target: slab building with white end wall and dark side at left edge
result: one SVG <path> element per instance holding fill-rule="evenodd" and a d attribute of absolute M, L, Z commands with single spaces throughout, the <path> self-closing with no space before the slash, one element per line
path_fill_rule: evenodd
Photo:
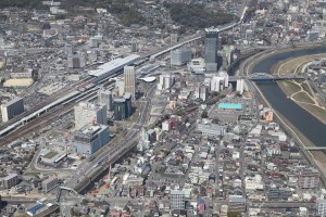
<path fill-rule="evenodd" d="M 24 112 L 24 101 L 16 98 L 5 104 L 1 104 L 2 122 L 8 122 Z"/>

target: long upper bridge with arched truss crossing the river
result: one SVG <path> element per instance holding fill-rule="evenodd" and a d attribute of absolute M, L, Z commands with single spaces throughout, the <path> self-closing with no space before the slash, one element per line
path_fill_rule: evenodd
<path fill-rule="evenodd" d="M 275 75 L 268 73 L 253 73 L 248 76 L 230 76 L 229 81 L 236 81 L 239 79 L 247 79 L 253 81 L 263 80 L 293 80 L 293 79 L 305 79 L 304 76 L 300 75 Z"/>

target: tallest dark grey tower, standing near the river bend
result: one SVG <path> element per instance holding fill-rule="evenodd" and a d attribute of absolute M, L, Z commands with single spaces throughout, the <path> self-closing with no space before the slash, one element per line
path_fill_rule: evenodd
<path fill-rule="evenodd" d="M 208 73 L 217 72 L 218 30 L 205 29 L 205 67 Z"/>

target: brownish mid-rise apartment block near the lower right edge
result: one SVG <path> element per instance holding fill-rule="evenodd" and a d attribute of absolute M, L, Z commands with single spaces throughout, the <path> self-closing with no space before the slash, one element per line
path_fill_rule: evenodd
<path fill-rule="evenodd" d="M 305 168 L 299 173 L 300 189 L 316 189 L 319 187 L 319 173 L 316 168 Z"/>

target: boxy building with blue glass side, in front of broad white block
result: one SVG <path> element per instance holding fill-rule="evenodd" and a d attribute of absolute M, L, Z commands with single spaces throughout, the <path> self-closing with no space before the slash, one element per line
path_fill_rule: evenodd
<path fill-rule="evenodd" d="M 87 125 L 75 131 L 74 149 L 79 154 L 91 155 L 110 141 L 109 127 L 105 125 Z"/>

